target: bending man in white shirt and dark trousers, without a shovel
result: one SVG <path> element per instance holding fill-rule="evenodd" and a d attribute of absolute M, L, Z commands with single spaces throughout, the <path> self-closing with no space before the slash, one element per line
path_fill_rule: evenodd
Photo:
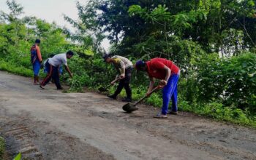
<path fill-rule="evenodd" d="M 73 55 L 74 53 L 72 51 L 68 51 L 67 53 L 61 53 L 49 58 L 45 64 L 48 65 L 49 72 L 39 87 L 44 89 L 45 85 L 48 84 L 50 79 L 53 79 L 57 89 L 63 89 L 59 83 L 59 66 L 63 64 L 66 71 L 69 73 L 69 76 L 72 78 L 72 73 L 67 65 L 67 59 L 70 59 Z"/>

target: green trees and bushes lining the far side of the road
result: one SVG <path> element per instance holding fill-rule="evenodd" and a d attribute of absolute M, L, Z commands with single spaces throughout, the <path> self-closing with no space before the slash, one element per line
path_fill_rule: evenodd
<path fill-rule="evenodd" d="M 91 0 L 77 4 L 80 20 L 64 16 L 75 33 L 21 17 L 23 8 L 15 1 L 7 5 L 11 12 L 0 15 L 1 70 L 32 76 L 29 48 L 39 38 L 44 60 L 67 49 L 76 52 L 69 61 L 74 78 L 62 76 L 69 92 L 97 89 L 116 74 L 101 58 L 99 44 L 108 38 L 113 55 L 133 62 L 165 57 L 181 68 L 179 110 L 256 127 L 255 1 Z M 147 86 L 146 75 L 134 72 L 133 99 Z M 161 107 L 161 92 L 146 103 Z"/>

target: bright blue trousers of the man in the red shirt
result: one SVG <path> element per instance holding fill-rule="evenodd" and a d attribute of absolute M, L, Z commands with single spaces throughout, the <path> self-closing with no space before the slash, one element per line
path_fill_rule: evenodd
<path fill-rule="evenodd" d="M 162 114 L 168 113 L 170 99 L 172 100 L 172 111 L 178 111 L 178 74 L 172 74 L 167 85 L 162 89 Z"/>

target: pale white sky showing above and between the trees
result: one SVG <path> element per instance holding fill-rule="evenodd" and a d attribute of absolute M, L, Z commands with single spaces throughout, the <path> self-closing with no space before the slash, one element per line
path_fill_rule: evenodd
<path fill-rule="evenodd" d="M 76 8 L 77 0 L 15 0 L 23 7 L 23 15 L 35 16 L 46 20 L 48 23 L 56 22 L 57 25 L 66 26 L 72 29 L 72 26 L 64 21 L 63 14 L 78 19 L 78 10 Z M 78 0 L 81 4 L 86 5 L 87 0 Z M 0 0 L 0 10 L 9 13 L 6 0 Z M 106 50 L 110 47 L 109 41 L 105 39 L 102 47 Z"/>

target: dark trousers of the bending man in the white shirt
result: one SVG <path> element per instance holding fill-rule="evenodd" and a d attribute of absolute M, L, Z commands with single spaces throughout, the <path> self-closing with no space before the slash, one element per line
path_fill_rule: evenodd
<path fill-rule="evenodd" d="M 50 79 L 54 80 L 54 83 L 57 87 L 57 89 L 61 89 L 61 84 L 59 83 L 59 67 L 54 67 L 53 65 L 50 65 L 48 62 L 45 64 L 48 65 L 49 72 L 45 79 L 42 81 L 42 86 L 45 86 L 49 83 Z"/>

